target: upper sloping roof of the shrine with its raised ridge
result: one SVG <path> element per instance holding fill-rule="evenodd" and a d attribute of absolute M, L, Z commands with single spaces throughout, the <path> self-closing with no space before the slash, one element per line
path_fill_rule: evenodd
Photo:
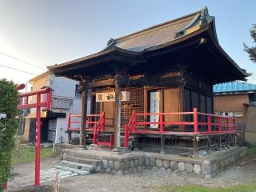
<path fill-rule="evenodd" d="M 208 24 L 214 17 L 208 14 L 205 7 L 194 14 L 186 15 L 169 22 L 164 22 L 157 26 L 151 26 L 145 30 L 126 35 L 122 38 L 110 39 L 105 50 L 117 46 L 123 50 L 141 52 L 150 47 L 159 46 L 167 42 L 172 42 L 194 30 Z"/>

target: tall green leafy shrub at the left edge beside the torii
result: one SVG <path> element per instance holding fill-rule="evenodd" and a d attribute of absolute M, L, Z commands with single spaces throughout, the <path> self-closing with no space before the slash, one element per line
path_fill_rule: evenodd
<path fill-rule="evenodd" d="M 0 191 L 2 183 L 10 177 L 11 152 L 15 146 L 14 134 L 18 127 L 15 120 L 17 104 L 18 90 L 14 82 L 0 79 L 0 114 L 6 114 L 6 118 L 0 119 Z"/>

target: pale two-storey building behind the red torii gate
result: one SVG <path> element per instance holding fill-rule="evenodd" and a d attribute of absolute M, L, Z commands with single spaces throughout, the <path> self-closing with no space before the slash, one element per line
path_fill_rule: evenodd
<path fill-rule="evenodd" d="M 31 78 L 29 81 L 33 90 L 40 90 L 44 87 L 51 89 L 50 110 L 42 109 L 41 112 L 41 139 L 42 142 L 67 142 L 67 117 L 68 114 L 81 113 L 81 94 L 78 90 L 78 82 L 56 77 L 50 71 Z M 29 102 L 35 102 L 36 98 L 31 97 Z M 41 98 L 46 101 L 46 97 Z M 24 139 L 34 142 L 35 138 L 35 108 L 30 109 L 26 116 Z"/>

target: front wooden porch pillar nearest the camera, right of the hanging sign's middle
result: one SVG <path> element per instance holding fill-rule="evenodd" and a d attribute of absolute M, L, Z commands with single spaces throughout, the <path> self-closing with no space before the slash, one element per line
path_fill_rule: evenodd
<path fill-rule="evenodd" d="M 114 86 L 114 147 L 121 146 L 120 143 L 120 130 L 121 130 L 121 98 L 122 98 L 122 86 L 121 86 L 120 74 L 115 75 Z"/>

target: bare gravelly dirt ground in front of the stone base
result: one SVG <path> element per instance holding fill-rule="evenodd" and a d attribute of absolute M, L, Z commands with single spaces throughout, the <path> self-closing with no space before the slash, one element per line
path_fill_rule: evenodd
<path fill-rule="evenodd" d="M 58 158 L 42 161 L 42 170 L 58 163 Z M 34 164 L 14 167 L 14 173 L 24 174 L 34 170 Z M 31 172 L 30 172 L 31 173 Z M 155 174 L 149 170 L 141 174 L 116 176 L 110 174 L 90 174 L 60 180 L 61 191 L 159 191 L 166 185 L 199 185 L 199 186 L 233 186 L 256 182 L 256 154 L 248 154 L 239 162 L 234 163 L 214 178 L 200 178 L 196 174 L 174 171 L 171 174 Z M 53 182 L 44 185 L 54 186 Z"/>

